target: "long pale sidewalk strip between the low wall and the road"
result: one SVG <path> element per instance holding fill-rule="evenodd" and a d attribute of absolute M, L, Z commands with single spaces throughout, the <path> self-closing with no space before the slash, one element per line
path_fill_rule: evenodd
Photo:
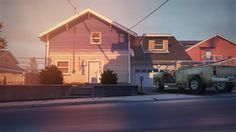
<path fill-rule="evenodd" d="M 166 101 L 166 100 L 183 100 L 183 99 L 202 99 L 210 97 L 236 97 L 236 93 L 211 95 L 211 96 L 186 95 L 186 94 L 157 94 L 157 95 L 142 95 L 142 96 L 137 95 L 137 96 L 122 96 L 122 97 L 91 97 L 91 98 L 3 102 L 0 103 L 0 109 L 77 105 L 77 104 L 128 103 L 128 102 L 144 102 L 144 101 L 148 102 L 148 101 Z"/>

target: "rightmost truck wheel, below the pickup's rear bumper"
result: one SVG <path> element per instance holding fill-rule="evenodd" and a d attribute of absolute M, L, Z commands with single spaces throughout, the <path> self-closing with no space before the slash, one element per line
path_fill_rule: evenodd
<path fill-rule="evenodd" d="M 227 92 L 231 92 L 233 89 L 233 85 L 231 83 L 227 83 L 227 82 L 216 82 L 214 84 L 216 90 L 220 93 L 227 93 Z"/>

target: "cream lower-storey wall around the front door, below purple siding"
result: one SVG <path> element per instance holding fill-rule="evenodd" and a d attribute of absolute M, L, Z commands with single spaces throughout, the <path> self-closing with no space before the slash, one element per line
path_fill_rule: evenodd
<path fill-rule="evenodd" d="M 122 54 L 112 52 L 106 52 L 104 54 L 100 52 L 76 52 L 74 57 L 71 52 L 51 52 L 50 60 L 51 64 L 54 65 L 56 65 L 58 60 L 70 61 L 69 74 L 64 75 L 65 83 L 88 83 L 89 61 L 101 61 L 101 70 L 114 70 L 118 74 L 118 83 L 128 83 L 128 54 L 126 52 Z M 82 65 L 83 62 L 86 63 L 85 66 Z M 74 73 L 73 69 L 75 71 Z"/>

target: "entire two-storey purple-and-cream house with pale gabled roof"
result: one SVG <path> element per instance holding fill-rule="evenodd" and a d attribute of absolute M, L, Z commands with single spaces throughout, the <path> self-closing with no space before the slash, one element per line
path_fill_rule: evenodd
<path fill-rule="evenodd" d="M 65 83 L 98 83 L 105 69 L 130 83 L 130 44 L 136 33 L 86 9 L 41 33 L 46 64 L 57 65 Z"/>

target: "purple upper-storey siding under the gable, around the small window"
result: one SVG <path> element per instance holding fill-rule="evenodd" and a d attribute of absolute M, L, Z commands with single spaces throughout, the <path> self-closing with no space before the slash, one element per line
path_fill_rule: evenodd
<path fill-rule="evenodd" d="M 50 37 L 50 52 L 119 52 L 128 51 L 128 34 L 99 18 L 85 15 L 69 24 L 69 30 L 59 29 Z M 90 44 L 90 32 L 101 32 L 102 44 Z"/>

